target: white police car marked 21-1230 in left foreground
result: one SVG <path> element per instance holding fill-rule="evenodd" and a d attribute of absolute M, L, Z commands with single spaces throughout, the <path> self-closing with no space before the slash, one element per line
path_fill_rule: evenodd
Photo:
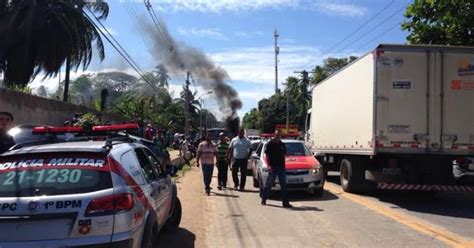
<path fill-rule="evenodd" d="M 0 185 L 2 248 L 156 247 L 181 220 L 170 174 L 129 137 L 9 151 Z"/>

